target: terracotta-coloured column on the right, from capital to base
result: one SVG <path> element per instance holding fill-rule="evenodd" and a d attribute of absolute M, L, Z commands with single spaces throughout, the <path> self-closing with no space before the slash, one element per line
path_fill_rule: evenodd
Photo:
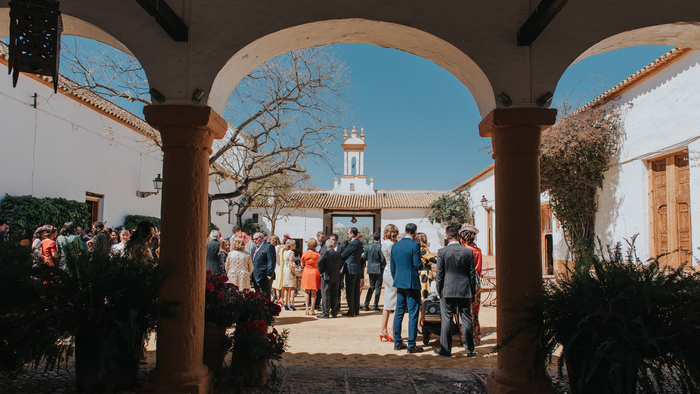
<path fill-rule="evenodd" d="M 479 124 L 491 137 L 495 160 L 496 284 L 498 339 L 522 317 L 514 311 L 542 291 L 540 223 L 540 133 L 554 124 L 556 110 L 493 110 Z M 536 338 L 521 334 L 498 352 L 497 368 L 488 376 L 489 394 L 552 393 L 544 365 L 528 345 Z M 538 380 L 539 383 L 536 383 Z"/>

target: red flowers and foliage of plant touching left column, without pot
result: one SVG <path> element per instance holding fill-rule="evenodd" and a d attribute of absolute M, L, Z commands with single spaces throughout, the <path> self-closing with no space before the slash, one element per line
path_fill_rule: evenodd
<path fill-rule="evenodd" d="M 214 276 L 207 270 L 206 291 L 204 293 L 204 320 L 222 327 L 231 327 L 238 320 L 238 288 L 228 283 L 226 275 Z"/>

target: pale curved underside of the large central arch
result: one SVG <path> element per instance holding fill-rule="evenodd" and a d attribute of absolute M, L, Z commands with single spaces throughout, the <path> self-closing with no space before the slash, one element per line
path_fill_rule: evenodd
<path fill-rule="evenodd" d="M 486 74 L 454 45 L 416 28 L 367 19 L 307 23 L 250 43 L 219 70 L 207 105 L 222 113 L 236 85 L 256 67 L 281 54 L 312 46 L 346 43 L 395 48 L 428 59 L 449 71 L 469 89 L 482 117 L 496 108 L 493 88 Z"/>

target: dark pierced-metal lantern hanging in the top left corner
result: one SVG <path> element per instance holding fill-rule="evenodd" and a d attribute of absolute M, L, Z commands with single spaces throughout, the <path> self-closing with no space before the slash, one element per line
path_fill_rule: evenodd
<path fill-rule="evenodd" d="M 63 22 L 57 0 L 12 0 L 8 74 L 17 86 L 20 72 L 47 75 L 58 89 Z"/>

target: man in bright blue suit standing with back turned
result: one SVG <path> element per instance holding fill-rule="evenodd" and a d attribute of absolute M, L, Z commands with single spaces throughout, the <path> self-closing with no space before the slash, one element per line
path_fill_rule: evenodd
<path fill-rule="evenodd" d="M 420 259 L 420 244 L 416 237 L 418 226 L 406 225 L 406 236 L 391 247 L 391 276 L 396 287 L 396 313 L 394 314 L 394 350 L 406 349 L 401 338 L 401 323 L 408 309 L 408 353 L 420 353 L 423 348 L 416 346 L 418 313 L 420 310 L 420 280 L 418 269 L 423 266 Z"/>

